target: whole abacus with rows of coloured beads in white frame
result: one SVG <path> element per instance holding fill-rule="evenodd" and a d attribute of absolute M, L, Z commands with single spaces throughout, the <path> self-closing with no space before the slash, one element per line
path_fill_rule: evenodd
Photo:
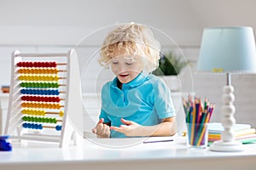
<path fill-rule="evenodd" d="M 38 61 L 38 59 L 40 59 Z M 4 133 L 12 139 L 54 142 L 83 139 L 79 62 L 67 54 L 12 54 L 9 109 Z"/>

